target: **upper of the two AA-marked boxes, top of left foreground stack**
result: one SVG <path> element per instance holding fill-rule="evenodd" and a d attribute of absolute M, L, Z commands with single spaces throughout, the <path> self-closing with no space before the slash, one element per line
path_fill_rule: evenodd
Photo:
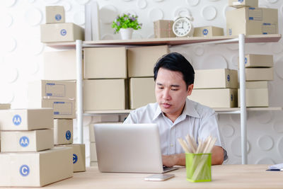
<path fill-rule="evenodd" d="M 53 128 L 52 108 L 0 110 L 0 130 Z"/>

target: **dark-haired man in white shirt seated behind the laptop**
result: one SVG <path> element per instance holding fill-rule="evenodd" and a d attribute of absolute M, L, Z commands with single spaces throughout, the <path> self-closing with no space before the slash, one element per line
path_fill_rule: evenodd
<path fill-rule="evenodd" d="M 221 147 L 214 110 L 187 99 L 194 86 L 195 71 L 190 62 L 177 52 L 161 57 L 154 67 L 156 103 L 129 113 L 124 123 L 157 123 L 161 137 L 164 166 L 185 166 L 185 154 L 178 138 L 187 134 L 195 139 L 215 137 L 212 164 L 222 164 Z M 225 151 L 226 152 L 226 151 Z"/>

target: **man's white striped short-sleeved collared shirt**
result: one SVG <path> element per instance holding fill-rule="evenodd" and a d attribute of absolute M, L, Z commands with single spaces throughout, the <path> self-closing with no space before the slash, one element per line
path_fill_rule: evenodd
<path fill-rule="evenodd" d="M 163 155 L 184 153 L 178 138 L 185 139 L 187 134 L 195 137 L 196 140 L 198 138 L 204 140 L 211 135 L 217 139 L 215 145 L 222 147 L 214 110 L 189 99 L 186 100 L 183 113 L 175 122 L 161 112 L 158 103 L 149 103 L 132 110 L 124 123 L 156 123 Z"/>

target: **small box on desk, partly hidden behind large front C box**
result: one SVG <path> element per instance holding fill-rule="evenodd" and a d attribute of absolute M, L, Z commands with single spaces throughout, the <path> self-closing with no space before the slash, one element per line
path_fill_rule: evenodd
<path fill-rule="evenodd" d="M 74 172 L 86 171 L 86 147 L 85 144 L 66 144 L 59 147 L 71 147 L 73 149 Z"/>

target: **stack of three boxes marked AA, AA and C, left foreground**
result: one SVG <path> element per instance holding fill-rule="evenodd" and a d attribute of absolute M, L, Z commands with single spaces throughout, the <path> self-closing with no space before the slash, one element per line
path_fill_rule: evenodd
<path fill-rule="evenodd" d="M 38 187 L 73 176 L 71 148 L 53 148 L 53 110 L 0 110 L 0 186 Z"/>

